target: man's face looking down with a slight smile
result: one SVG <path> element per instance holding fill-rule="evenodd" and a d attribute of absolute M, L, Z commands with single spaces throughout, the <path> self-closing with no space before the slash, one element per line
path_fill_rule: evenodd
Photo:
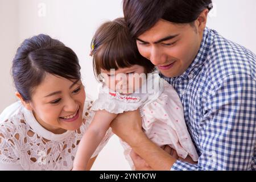
<path fill-rule="evenodd" d="M 199 51 L 203 32 L 191 24 L 174 24 L 160 19 L 137 38 L 137 46 L 166 77 L 182 75 Z"/>

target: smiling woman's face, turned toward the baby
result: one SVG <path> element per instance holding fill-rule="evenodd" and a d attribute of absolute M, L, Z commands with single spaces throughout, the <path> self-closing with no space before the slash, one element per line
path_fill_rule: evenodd
<path fill-rule="evenodd" d="M 82 124 L 85 90 L 81 80 L 67 80 L 47 73 L 29 103 L 36 120 L 55 134 L 76 130 Z"/>

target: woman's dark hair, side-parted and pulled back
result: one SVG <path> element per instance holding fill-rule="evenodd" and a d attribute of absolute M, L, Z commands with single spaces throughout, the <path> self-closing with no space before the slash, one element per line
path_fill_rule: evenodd
<path fill-rule="evenodd" d="M 15 88 L 24 101 L 31 101 L 36 86 L 42 83 L 46 73 L 79 80 L 81 74 L 76 53 L 48 35 L 24 40 L 16 51 L 12 67 Z"/>

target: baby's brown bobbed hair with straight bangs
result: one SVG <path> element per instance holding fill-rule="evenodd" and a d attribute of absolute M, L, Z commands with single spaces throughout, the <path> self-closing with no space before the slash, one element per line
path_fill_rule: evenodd
<path fill-rule="evenodd" d="M 155 66 L 141 56 L 137 44 L 131 38 L 124 18 L 102 24 L 92 40 L 92 55 L 94 75 L 98 81 L 101 69 L 129 68 L 135 64 L 145 68 L 146 73 L 154 70 Z"/>

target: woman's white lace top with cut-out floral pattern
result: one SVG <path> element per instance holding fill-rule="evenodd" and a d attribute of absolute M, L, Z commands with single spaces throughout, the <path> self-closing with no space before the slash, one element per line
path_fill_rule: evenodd
<path fill-rule="evenodd" d="M 1 122 L 0 163 L 20 164 L 24 170 L 71 170 L 77 145 L 94 116 L 91 106 L 92 102 L 88 102 L 80 129 L 69 132 L 60 140 L 48 140 L 38 135 L 28 125 L 22 111 Z M 93 156 L 100 152 L 111 135 L 109 130 Z"/>

